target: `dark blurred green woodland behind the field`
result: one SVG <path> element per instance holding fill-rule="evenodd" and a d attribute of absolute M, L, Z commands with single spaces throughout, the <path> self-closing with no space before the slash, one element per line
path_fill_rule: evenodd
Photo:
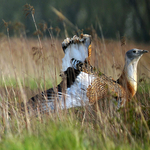
<path fill-rule="evenodd" d="M 18 28 L 19 32 L 24 28 L 28 37 L 33 36 L 32 17 L 23 11 L 26 3 L 35 8 L 39 29 L 45 24 L 59 37 L 64 37 L 64 26 L 70 35 L 75 30 L 69 24 L 63 24 L 63 19 L 52 11 L 51 6 L 84 33 L 94 30 L 98 36 L 109 39 L 126 36 L 134 41 L 150 41 L 150 0 L 0 0 L 1 33 L 6 32 L 4 19 L 9 22 L 11 36 L 17 36 Z M 44 35 L 48 35 L 48 30 Z"/>

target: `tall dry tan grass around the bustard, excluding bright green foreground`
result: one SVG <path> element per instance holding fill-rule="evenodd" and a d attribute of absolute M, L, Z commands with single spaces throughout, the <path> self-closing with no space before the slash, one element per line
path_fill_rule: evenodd
<path fill-rule="evenodd" d="M 35 39 L 10 38 L 9 40 L 11 47 L 7 37 L 3 37 L 0 41 L 0 134 L 2 138 L 6 131 L 10 135 L 20 135 L 24 129 L 27 129 L 32 134 L 36 132 L 37 123 L 35 122 L 37 119 L 41 124 L 43 122 L 45 124 L 45 118 L 55 122 L 58 117 L 62 122 L 64 120 L 68 123 L 79 121 L 81 127 L 86 128 L 89 137 L 89 130 L 92 129 L 93 132 L 94 130 L 100 131 L 104 140 L 111 139 L 114 143 L 119 140 L 138 145 L 136 140 L 146 137 L 149 139 L 150 87 L 147 85 L 150 67 L 149 54 L 143 56 L 138 65 L 139 79 L 143 79 L 144 76 L 147 80 L 138 83 L 139 91 L 127 109 L 113 112 L 113 115 L 107 111 L 100 111 L 97 118 L 91 114 L 88 108 L 72 109 L 67 114 L 61 112 L 59 115 L 43 116 L 43 114 L 38 114 L 38 118 L 36 118 L 27 111 L 23 113 L 20 105 L 21 102 L 26 103 L 36 93 L 51 88 L 61 81 L 59 72 L 64 56 L 61 49 L 62 40 L 47 38 L 41 40 L 43 54 L 41 54 Z M 92 42 L 92 65 L 116 79 L 123 69 L 124 53 L 133 47 L 149 49 L 144 44 L 129 43 L 121 47 L 119 41 L 106 40 L 105 43 L 102 43 L 101 39 L 94 39 Z"/>

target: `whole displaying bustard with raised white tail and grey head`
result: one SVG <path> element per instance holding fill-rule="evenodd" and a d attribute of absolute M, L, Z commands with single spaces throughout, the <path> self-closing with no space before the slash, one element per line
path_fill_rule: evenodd
<path fill-rule="evenodd" d="M 146 50 L 132 49 L 126 52 L 125 66 L 117 81 L 102 74 L 97 76 L 90 65 L 91 36 L 74 36 L 62 42 L 65 56 L 62 59 L 62 82 L 30 99 L 33 107 L 41 111 L 69 109 L 95 104 L 107 97 L 118 102 L 118 108 L 137 91 L 137 64 Z"/>

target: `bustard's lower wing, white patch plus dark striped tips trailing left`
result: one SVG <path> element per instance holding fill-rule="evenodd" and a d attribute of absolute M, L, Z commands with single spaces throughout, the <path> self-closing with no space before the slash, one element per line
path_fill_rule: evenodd
<path fill-rule="evenodd" d="M 36 101 L 37 104 L 39 102 L 39 107 L 42 111 L 89 105 L 87 88 L 94 79 L 94 75 L 80 72 L 71 86 L 65 86 L 66 80 L 64 79 L 56 88 L 51 88 L 32 97 L 30 102 Z M 64 92 L 62 88 L 65 88 Z"/>

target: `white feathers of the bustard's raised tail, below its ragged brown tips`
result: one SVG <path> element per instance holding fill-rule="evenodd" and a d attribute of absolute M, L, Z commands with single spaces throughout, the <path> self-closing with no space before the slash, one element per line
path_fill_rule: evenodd
<path fill-rule="evenodd" d="M 72 67 L 72 58 L 84 62 L 87 57 L 88 48 L 84 44 L 70 44 L 65 50 L 65 56 L 62 59 L 62 71 L 66 71 L 68 67 Z"/>

